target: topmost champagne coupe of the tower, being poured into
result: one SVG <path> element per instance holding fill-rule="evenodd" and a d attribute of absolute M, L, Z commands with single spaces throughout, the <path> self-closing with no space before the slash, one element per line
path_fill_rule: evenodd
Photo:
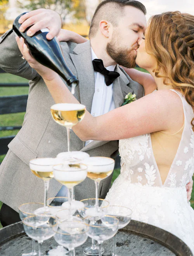
<path fill-rule="evenodd" d="M 52 118 L 57 124 L 65 126 L 68 135 L 68 151 L 71 151 L 70 131 L 85 116 L 86 107 L 82 104 L 58 103 L 50 108 Z"/>

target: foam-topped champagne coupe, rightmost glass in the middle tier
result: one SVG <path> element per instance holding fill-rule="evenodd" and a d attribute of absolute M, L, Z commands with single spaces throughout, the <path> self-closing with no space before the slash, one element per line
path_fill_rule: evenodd
<path fill-rule="evenodd" d="M 88 216 L 101 216 L 103 214 L 102 208 L 99 207 L 98 191 L 99 183 L 102 179 L 111 175 L 114 170 L 114 160 L 109 157 L 88 157 L 82 161 L 88 166 L 87 177 L 93 179 L 95 182 L 96 203 L 95 207 L 86 210 Z"/>

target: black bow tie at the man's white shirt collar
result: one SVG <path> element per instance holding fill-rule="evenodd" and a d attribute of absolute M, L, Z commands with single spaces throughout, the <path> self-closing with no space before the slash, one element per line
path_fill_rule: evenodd
<path fill-rule="evenodd" d="M 120 76 L 120 74 L 116 71 L 109 71 L 104 67 L 102 59 L 93 59 L 92 61 L 94 71 L 99 72 L 104 75 L 105 83 L 107 86 L 111 85 L 114 80 Z"/>

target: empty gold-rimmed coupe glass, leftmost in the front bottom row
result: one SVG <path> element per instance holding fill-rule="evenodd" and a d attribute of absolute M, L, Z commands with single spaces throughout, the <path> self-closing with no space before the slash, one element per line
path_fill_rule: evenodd
<path fill-rule="evenodd" d="M 23 219 L 24 231 L 26 234 L 36 241 L 38 241 L 39 252 L 38 256 L 42 256 L 41 244 L 44 240 L 50 239 L 54 236 L 57 230 L 58 223 L 55 218 L 42 216 L 30 216 Z"/>

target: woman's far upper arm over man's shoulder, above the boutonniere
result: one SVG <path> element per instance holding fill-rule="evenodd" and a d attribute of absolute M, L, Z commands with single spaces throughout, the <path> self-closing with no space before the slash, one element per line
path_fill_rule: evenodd
<path fill-rule="evenodd" d="M 134 68 L 122 68 L 130 76 L 130 78 L 132 78 L 132 80 L 138 82 L 144 87 L 145 95 L 156 90 L 156 83 L 150 74 L 135 70 Z"/>

